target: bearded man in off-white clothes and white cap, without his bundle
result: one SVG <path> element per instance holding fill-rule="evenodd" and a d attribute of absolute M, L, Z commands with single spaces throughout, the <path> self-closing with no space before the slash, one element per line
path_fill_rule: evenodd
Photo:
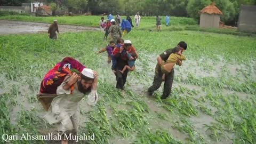
<path fill-rule="evenodd" d="M 88 95 L 87 103 L 95 105 L 98 101 L 97 83 L 97 72 L 84 68 L 79 76 L 76 73 L 66 76 L 62 84 L 58 86 L 58 97 L 52 100 L 46 119 L 50 124 L 58 123 L 58 131 L 61 135 L 77 133 L 80 114 L 79 101 Z M 71 85 L 74 85 L 73 91 L 70 89 Z M 68 140 L 62 139 L 62 144 L 66 143 Z"/>

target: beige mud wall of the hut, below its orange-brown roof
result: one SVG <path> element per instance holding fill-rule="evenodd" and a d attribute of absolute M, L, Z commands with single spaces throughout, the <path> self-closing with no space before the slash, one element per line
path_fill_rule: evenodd
<path fill-rule="evenodd" d="M 219 28 L 220 16 L 218 14 L 202 13 L 200 15 L 200 27 Z"/>

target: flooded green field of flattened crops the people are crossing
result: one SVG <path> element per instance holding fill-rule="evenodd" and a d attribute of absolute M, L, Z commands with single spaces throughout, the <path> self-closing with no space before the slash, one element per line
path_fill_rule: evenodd
<path fill-rule="evenodd" d="M 98 71 L 99 102 L 81 101 L 79 133 L 94 133 L 89 143 L 254 143 L 256 141 L 256 41 L 197 31 L 160 33 L 133 30 L 130 39 L 139 53 L 125 91 L 115 89 L 103 33 L 0 36 L 0 134 L 57 133 L 44 121 L 36 94 L 42 78 L 64 57 L 74 57 Z M 187 57 L 175 66 L 170 97 L 161 100 L 162 86 L 146 94 L 153 82 L 156 57 L 180 41 Z M 0 143 L 5 142 L 0 139 Z M 85 143 L 85 141 L 79 141 Z M 10 143 L 56 143 L 13 140 Z"/>

